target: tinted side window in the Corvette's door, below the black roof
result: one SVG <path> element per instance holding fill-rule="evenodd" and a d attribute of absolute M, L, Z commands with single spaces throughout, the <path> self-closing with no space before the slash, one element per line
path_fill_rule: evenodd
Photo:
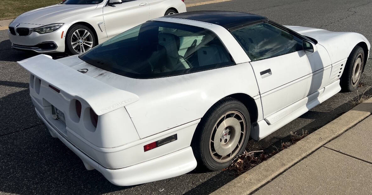
<path fill-rule="evenodd" d="M 302 50 L 302 40 L 269 23 L 237 29 L 232 35 L 253 61 Z"/>

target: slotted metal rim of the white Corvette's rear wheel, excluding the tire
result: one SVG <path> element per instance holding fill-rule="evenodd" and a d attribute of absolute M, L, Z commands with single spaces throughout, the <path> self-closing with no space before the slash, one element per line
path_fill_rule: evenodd
<path fill-rule="evenodd" d="M 229 111 L 215 123 L 209 139 L 209 152 L 220 163 L 235 157 L 243 145 L 246 121 L 238 111 Z"/>

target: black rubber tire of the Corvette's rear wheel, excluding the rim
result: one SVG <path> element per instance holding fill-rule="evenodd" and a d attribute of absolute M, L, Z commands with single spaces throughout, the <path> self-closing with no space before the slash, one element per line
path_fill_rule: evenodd
<path fill-rule="evenodd" d="M 217 121 L 220 121 L 219 119 L 225 115 L 225 113 L 228 112 L 238 112 L 243 116 L 243 120 L 245 121 L 245 134 L 242 135 L 240 134 L 239 138 L 239 143 L 240 146 L 237 145 L 235 147 L 234 154 L 231 153 L 230 156 L 228 156 L 231 159 L 226 159 L 226 162 L 217 162 L 214 158 L 212 157 L 213 151 L 212 151 L 212 142 L 209 141 L 211 140 L 212 137 L 216 136 L 218 131 L 218 126 L 215 124 L 218 124 Z M 230 116 L 226 116 L 225 118 L 235 116 L 240 118 L 240 116 L 236 116 L 233 114 L 230 114 Z M 234 119 L 233 119 L 234 120 Z M 220 123 L 219 125 L 221 125 Z M 242 122 L 239 122 L 241 125 L 241 130 L 243 130 L 243 124 Z M 203 116 L 201 121 L 198 124 L 198 127 L 196 128 L 196 131 L 194 133 L 193 139 L 192 139 L 192 149 L 194 156 L 198 162 L 198 166 L 207 168 L 209 170 L 222 170 L 232 163 L 232 160 L 241 153 L 246 148 L 246 145 L 248 143 L 248 138 L 250 134 L 250 116 L 249 112 L 246 108 L 246 106 L 243 105 L 240 101 L 237 99 L 231 98 L 231 97 L 225 97 L 224 99 L 220 100 L 219 102 L 215 103 L 215 105 L 212 106 L 208 110 L 208 112 Z M 223 127 L 222 127 L 223 128 Z M 226 128 L 225 128 L 226 130 Z M 213 134 L 212 134 L 213 132 Z M 232 131 L 231 131 L 232 132 Z M 234 133 L 229 134 L 231 137 L 233 137 Z M 222 135 L 219 136 L 224 136 L 224 131 L 222 132 Z M 219 137 L 217 137 L 218 139 Z M 222 138 L 222 137 L 221 137 Z M 230 140 L 229 140 L 230 141 Z M 222 139 L 221 139 L 222 143 Z M 226 143 L 226 142 L 225 142 Z M 228 143 L 228 142 L 227 142 Z M 210 145 L 211 144 L 211 145 Z M 217 154 L 218 155 L 218 154 Z"/>

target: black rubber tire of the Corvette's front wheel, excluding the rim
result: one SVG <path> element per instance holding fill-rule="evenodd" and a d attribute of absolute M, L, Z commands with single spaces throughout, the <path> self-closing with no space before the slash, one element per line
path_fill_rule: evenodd
<path fill-rule="evenodd" d="M 359 59 L 360 58 L 360 59 Z M 360 67 L 357 65 L 357 60 L 360 60 Z M 342 92 L 352 92 L 357 89 L 360 79 L 362 77 L 362 70 L 364 66 L 364 51 L 360 46 L 355 46 L 345 64 L 345 70 L 340 78 L 340 86 Z M 353 75 L 355 75 L 355 69 L 359 70 L 359 78 L 353 81 Z"/>

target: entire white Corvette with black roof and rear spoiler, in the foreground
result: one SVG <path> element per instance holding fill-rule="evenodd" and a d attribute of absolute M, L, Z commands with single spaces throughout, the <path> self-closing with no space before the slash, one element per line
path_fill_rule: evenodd
<path fill-rule="evenodd" d="M 221 170 L 340 90 L 369 55 L 353 32 L 282 26 L 240 12 L 145 22 L 90 51 L 18 62 L 53 137 L 115 185 Z"/>

